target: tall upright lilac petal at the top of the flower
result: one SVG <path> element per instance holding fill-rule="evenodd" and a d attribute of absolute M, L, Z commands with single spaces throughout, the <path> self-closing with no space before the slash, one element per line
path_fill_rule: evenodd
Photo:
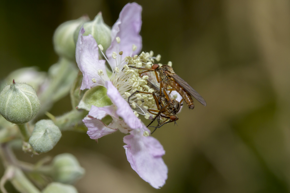
<path fill-rule="evenodd" d="M 114 69 L 115 61 L 112 58 L 112 53 L 117 53 L 117 60 L 120 60 L 120 51 L 123 51 L 123 58 L 126 56 L 133 56 L 138 54 L 142 49 L 142 37 L 139 35 L 141 30 L 142 20 L 141 20 L 142 7 L 137 3 L 128 3 L 124 6 L 120 12 L 119 19 L 112 27 L 111 39 L 112 43 L 106 51 L 106 55 L 111 67 Z M 121 39 L 120 43 L 117 43 L 116 37 Z M 135 44 L 137 49 L 132 50 L 132 46 Z M 118 66 L 122 68 L 123 66 Z"/>

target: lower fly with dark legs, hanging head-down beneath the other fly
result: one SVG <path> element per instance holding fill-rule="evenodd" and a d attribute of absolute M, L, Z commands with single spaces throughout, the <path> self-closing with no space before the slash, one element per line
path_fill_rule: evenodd
<path fill-rule="evenodd" d="M 155 100 L 155 103 L 157 106 L 157 110 L 155 110 L 155 109 L 148 109 L 147 110 L 149 113 L 155 115 L 155 117 L 152 119 L 152 121 L 149 123 L 149 125 L 147 125 L 147 127 L 154 127 L 156 130 L 157 128 L 162 127 L 162 125 L 164 125 L 166 123 L 171 123 L 173 121 L 174 122 L 177 121 L 178 120 L 177 112 L 180 110 L 180 106 L 181 106 L 180 102 L 178 102 L 176 99 L 173 99 L 170 95 L 168 95 L 166 93 L 166 91 L 165 92 L 160 91 L 160 88 L 157 85 L 155 85 L 155 83 L 153 83 L 153 81 L 151 81 L 149 79 L 147 79 L 147 85 L 149 86 L 149 88 L 152 88 L 154 90 L 154 92 L 143 92 L 143 91 L 137 90 L 133 94 L 131 94 L 131 96 L 133 96 L 135 93 L 139 92 L 139 93 L 144 93 L 144 94 L 152 94 L 154 97 L 154 100 Z M 128 97 L 128 103 L 129 103 L 130 97 Z M 165 120 L 162 121 L 161 123 L 159 121 L 160 117 L 165 118 Z M 157 119 L 158 125 L 156 127 L 150 126 L 155 121 L 155 119 Z"/>

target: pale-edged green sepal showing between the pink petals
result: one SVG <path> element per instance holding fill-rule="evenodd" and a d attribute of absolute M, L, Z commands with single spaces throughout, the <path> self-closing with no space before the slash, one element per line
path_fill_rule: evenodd
<path fill-rule="evenodd" d="M 95 86 L 85 92 L 77 108 L 90 111 L 92 105 L 104 107 L 111 104 L 112 102 L 107 95 L 107 89 L 104 86 Z"/>

